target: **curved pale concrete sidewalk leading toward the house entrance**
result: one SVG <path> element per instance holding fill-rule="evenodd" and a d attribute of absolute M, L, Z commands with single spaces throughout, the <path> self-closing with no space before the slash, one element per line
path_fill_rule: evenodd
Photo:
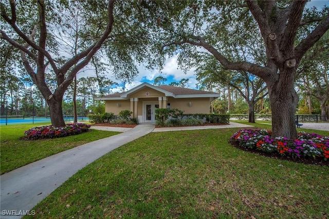
<path fill-rule="evenodd" d="M 4 210 L 12 210 L 12 214 L 30 210 L 78 170 L 153 129 L 153 124 L 141 124 L 123 133 L 51 155 L 1 175 L 1 214 Z M 9 215 L 0 217 L 21 218 Z"/>

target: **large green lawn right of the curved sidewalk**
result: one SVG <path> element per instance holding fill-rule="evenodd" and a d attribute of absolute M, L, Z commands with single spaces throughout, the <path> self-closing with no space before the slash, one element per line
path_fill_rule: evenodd
<path fill-rule="evenodd" d="M 329 217 L 328 167 L 234 148 L 228 139 L 236 130 L 145 135 L 69 178 L 34 217 Z"/>

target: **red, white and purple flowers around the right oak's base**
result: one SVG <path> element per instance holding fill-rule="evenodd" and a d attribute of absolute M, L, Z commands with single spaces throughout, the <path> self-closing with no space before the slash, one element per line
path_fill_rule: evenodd
<path fill-rule="evenodd" d="M 257 149 L 263 152 L 291 156 L 293 158 L 323 157 L 329 158 L 329 136 L 315 133 L 299 132 L 298 139 L 288 140 L 286 137 L 271 137 L 269 130 L 241 129 L 235 132 L 231 143 L 240 147 Z"/>

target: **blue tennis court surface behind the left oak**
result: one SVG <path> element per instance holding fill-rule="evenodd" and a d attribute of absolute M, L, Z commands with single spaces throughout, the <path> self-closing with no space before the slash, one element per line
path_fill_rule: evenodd
<path fill-rule="evenodd" d="M 50 122 L 50 118 L 49 117 L 24 117 L 24 116 L 20 116 L 20 117 L 15 117 L 15 118 L 11 118 L 11 117 L 0 117 L 0 125 L 1 126 L 5 126 L 6 125 L 6 120 L 7 120 L 7 125 L 17 125 L 17 124 L 38 124 L 38 123 L 49 123 Z M 78 117 L 78 121 L 79 122 L 83 122 L 83 121 L 88 121 L 89 118 L 88 117 Z M 72 116 L 64 116 L 64 121 L 65 122 L 73 122 L 73 117 Z"/>

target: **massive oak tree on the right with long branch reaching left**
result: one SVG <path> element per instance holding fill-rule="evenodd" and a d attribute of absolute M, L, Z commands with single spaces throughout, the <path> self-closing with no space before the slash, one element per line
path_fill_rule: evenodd
<path fill-rule="evenodd" d="M 188 2 L 184 9 L 179 7 L 180 10 L 176 10 L 175 14 L 170 12 L 167 17 L 159 16 L 158 26 L 167 34 L 162 36 L 162 51 L 172 53 L 178 50 L 183 63 L 189 59 L 189 55 L 198 52 L 196 47 L 203 48 L 225 69 L 246 71 L 259 76 L 268 87 L 273 137 L 296 138 L 295 113 L 299 99 L 294 89 L 296 69 L 305 52 L 329 28 L 326 10 L 318 13 L 318 16 L 303 16 L 306 2 Z M 232 32 L 244 32 L 250 22 L 257 24 L 258 30 L 254 31 L 254 35 L 263 39 L 266 65 L 259 65 L 252 60 L 234 62 L 218 49 L 226 43 L 221 37 L 222 31 L 231 30 L 233 26 L 230 24 L 237 22 L 241 25 Z M 314 24 L 313 28 L 297 41 L 299 29 L 310 23 Z"/>

